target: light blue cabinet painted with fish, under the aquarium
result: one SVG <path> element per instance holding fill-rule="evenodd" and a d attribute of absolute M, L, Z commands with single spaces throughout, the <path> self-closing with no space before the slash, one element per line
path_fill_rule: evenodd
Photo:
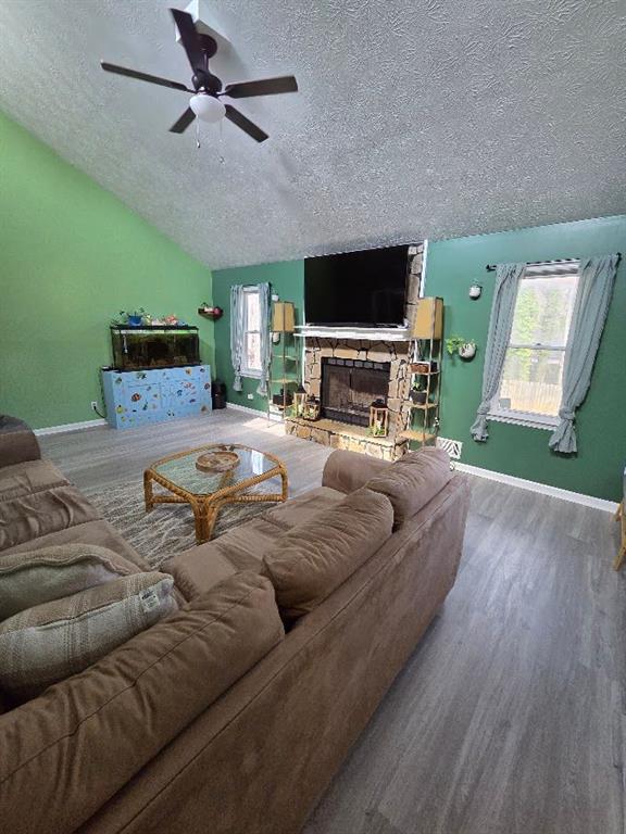
<path fill-rule="evenodd" d="M 114 429 L 175 420 L 211 410 L 211 366 L 102 370 L 107 420 Z"/>

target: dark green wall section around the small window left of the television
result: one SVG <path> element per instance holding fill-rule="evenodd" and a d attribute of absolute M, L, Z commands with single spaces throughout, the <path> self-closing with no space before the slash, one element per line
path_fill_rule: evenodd
<path fill-rule="evenodd" d="M 233 365 L 230 363 L 230 287 L 234 283 L 252 285 L 270 281 L 272 292 L 280 301 L 296 305 L 296 324 L 302 324 L 304 301 L 304 262 L 287 261 L 260 266 L 242 266 L 234 269 L 217 269 L 213 273 L 213 303 L 224 308 L 224 316 L 215 323 L 215 367 L 216 376 L 226 382 L 229 403 L 245 405 L 264 412 L 265 397 L 256 393 L 256 379 L 243 379 L 241 392 L 233 389 Z M 248 399 L 252 394 L 252 400 Z"/>

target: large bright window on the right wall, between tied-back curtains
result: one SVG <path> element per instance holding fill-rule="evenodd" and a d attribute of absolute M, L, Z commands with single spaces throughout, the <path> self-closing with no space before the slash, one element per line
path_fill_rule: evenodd
<path fill-rule="evenodd" d="M 558 425 L 577 288 L 578 262 L 526 267 L 491 419 L 537 428 Z"/>

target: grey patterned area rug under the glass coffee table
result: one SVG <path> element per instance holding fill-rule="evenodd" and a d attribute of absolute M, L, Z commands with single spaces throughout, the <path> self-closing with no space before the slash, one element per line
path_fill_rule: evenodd
<path fill-rule="evenodd" d="M 154 484 L 154 494 L 160 491 Z M 250 492 L 280 492 L 280 479 L 263 481 Z M 88 497 L 151 568 L 159 568 L 170 556 L 196 544 L 191 507 L 188 504 L 158 504 L 151 513 L 146 513 L 140 478 L 113 489 L 89 492 Z M 213 539 L 272 506 L 271 502 L 227 504 L 217 517 Z"/>

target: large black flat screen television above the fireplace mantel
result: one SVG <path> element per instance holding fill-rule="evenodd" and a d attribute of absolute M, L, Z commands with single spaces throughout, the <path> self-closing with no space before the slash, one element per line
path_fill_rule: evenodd
<path fill-rule="evenodd" d="M 401 327 L 409 247 L 304 261 L 304 317 L 327 327 Z"/>

